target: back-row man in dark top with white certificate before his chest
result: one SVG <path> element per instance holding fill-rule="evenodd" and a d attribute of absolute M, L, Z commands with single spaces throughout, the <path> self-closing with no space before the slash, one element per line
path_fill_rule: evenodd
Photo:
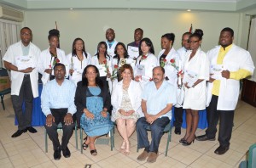
<path fill-rule="evenodd" d="M 134 31 L 134 42 L 131 42 L 127 45 L 127 50 L 131 59 L 137 59 L 137 57 L 139 56 L 139 45 L 142 39 L 143 30 L 141 28 L 137 28 Z"/>

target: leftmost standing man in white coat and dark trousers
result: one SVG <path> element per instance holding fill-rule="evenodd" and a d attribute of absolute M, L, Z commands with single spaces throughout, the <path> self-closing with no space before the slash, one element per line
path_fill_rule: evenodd
<path fill-rule="evenodd" d="M 38 70 L 36 68 L 40 49 L 32 41 L 28 27 L 20 30 L 20 42 L 11 45 L 3 56 L 4 66 L 11 70 L 11 98 L 18 120 L 18 131 L 12 137 L 24 132 L 36 133 L 32 127 L 33 98 L 38 97 Z M 25 111 L 22 112 L 22 104 Z"/>

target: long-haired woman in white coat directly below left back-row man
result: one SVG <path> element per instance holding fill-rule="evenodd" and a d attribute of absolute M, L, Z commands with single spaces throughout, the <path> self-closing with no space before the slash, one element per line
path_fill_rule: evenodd
<path fill-rule="evenodd" d="M 110 78 L 110 57 L 107 53 L 107 43 L 99 42 L 97 46 L 97 53 L 91 57 L 90 64 L 96 65 L 100 71 L 100 78 L 105 87 L 108 87 L 108 80 Z M 108 87 L 109 88 L 109 87 Z"/>

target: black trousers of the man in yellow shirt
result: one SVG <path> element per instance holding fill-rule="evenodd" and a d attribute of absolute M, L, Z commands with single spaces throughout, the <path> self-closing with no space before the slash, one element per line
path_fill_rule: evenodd
<path fill-rule="evenodd" d="M 229 147 L 235 110 L 217 110 L 217 104 L 218 96 L 212 95 L 211 103 L 207 107 L 208 128 L 206 134 L 209 138 L 216 136 L 219 119 L 218 142 L 220 146 Z"/>

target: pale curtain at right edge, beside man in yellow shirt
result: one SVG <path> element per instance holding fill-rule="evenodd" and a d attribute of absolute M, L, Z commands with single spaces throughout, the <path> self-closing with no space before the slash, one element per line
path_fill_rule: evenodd
<path fill-rule="evenodd" d="M 249 33 L 249 42 L 248 42 L 248 52 L 251 53 L 254 66 L 256 65 L 256 17 L 251 21 L 250 33 Z M 256 81 L 256 70 L 254 69 L 253 76 L 251 80 Z"/>

